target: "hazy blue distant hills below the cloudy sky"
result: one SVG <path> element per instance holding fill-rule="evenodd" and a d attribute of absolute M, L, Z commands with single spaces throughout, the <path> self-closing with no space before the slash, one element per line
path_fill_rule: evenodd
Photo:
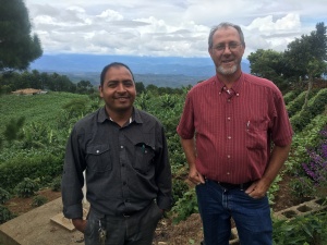
<path fill-rule="evenodd" d="M 86 79 L 98 84 L 102 68 L 114 61 L 128 64 L 136 82 L 155 84 L 158 87 L 194 85 L 215 74 L 210 58 L 95 54 L 44 54 L 31 64 L 31 70 L 57 72 L 68 75 L 74 82 Z M 250 73 L 246 60 L 242 62 L 242 69 Z"/>

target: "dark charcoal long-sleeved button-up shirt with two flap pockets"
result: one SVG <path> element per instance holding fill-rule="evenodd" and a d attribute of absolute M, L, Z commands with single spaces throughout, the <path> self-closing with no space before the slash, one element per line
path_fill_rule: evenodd
<path fill-rule="evenodd" d="M 62 175 L 63 213 L 82 218 L 86 198 L 99 213 L 120 216 L 156 200 L 169 209 L 171 170 L 161 123 L 134 108 L 131 122 L 120 127 L 105 108 L 78 121 L 68 140 Z"/>

